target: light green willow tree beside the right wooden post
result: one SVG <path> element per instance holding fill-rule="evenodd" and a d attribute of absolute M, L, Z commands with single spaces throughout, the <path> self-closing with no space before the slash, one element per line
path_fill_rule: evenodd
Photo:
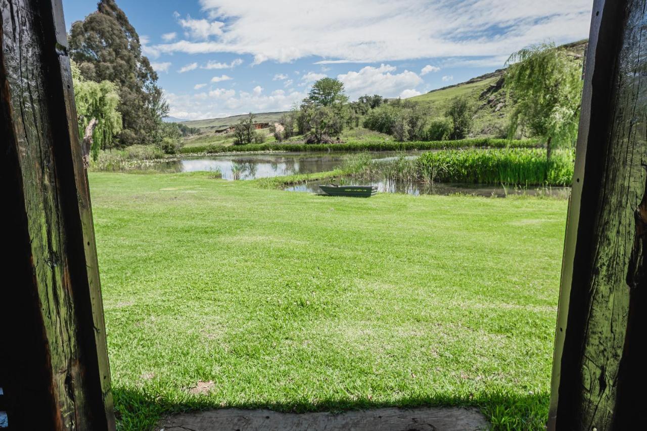
<path fill-rule="evenodd" d="M 519 129 L 546 142 L 546 159 L 577 138 L 582 103 L 582 61 L 563 47 L 542 43 L 508 59 L 505 88 L 514 101 L 509 137 Z"/>

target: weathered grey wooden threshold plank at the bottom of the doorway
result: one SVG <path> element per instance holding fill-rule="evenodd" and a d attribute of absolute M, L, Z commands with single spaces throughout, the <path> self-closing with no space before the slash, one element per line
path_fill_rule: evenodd
<path fill-rule="evenodd" d="M 358 412 L 277 413 L 228 408 L 168 417 L 164 431 L 478 431 L 490 424 L 473 408 L 379 408 Z"/>

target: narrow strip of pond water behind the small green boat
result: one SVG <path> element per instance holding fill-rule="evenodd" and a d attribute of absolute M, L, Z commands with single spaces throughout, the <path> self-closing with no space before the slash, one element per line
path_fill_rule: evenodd
<path fill-rule="evenodd" d="M 330 183 L 331 180 L 311 181 L 288 186 L 283 190 L 287 190 L 289 192 L 322 193 L 319 188 L 320 184 Z M 381 193 L 406 193 L 409 195 L 453 195 L 456 193 L 487 197 L 505 197 L 507 195 L 542 195 L 567 199 L 571 193 L 570 187 L 529 186 L 527 188 L 515 188 L 487 184 L 459 184 L 451 182 L 435 182 L 430 184 L 424 182 L 353 180 L 350 178 L 336 179 L 334 183 L 339 185 L 352 184 L 358 186 L 377 186 L 378 192 Z"/>

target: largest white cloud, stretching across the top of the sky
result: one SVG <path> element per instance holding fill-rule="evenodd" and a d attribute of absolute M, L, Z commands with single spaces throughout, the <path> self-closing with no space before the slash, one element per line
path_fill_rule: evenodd
<path fill-rule="evenodd" d="M 254 56 L 256 63 L 307 56 L 326 62 L 503 56 L 547 38 L 556 43 L 586 38 L 591 16 L 591 0 L 200 0 L 200 4 L 208 19 L 181 20 L 189 40 L 155 49 L 236 52 Z"/>

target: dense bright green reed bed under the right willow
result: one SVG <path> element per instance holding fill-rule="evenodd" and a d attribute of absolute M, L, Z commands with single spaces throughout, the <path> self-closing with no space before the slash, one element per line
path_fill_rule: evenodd
<path fill-rule="evenodd" d="M 551 160 L 541 149 L 468 149 L 425 153 L 418 159 L 421 179 L 477 184 L 566 186 L 571 184 L 575 152 L 558 151 Z"/>

